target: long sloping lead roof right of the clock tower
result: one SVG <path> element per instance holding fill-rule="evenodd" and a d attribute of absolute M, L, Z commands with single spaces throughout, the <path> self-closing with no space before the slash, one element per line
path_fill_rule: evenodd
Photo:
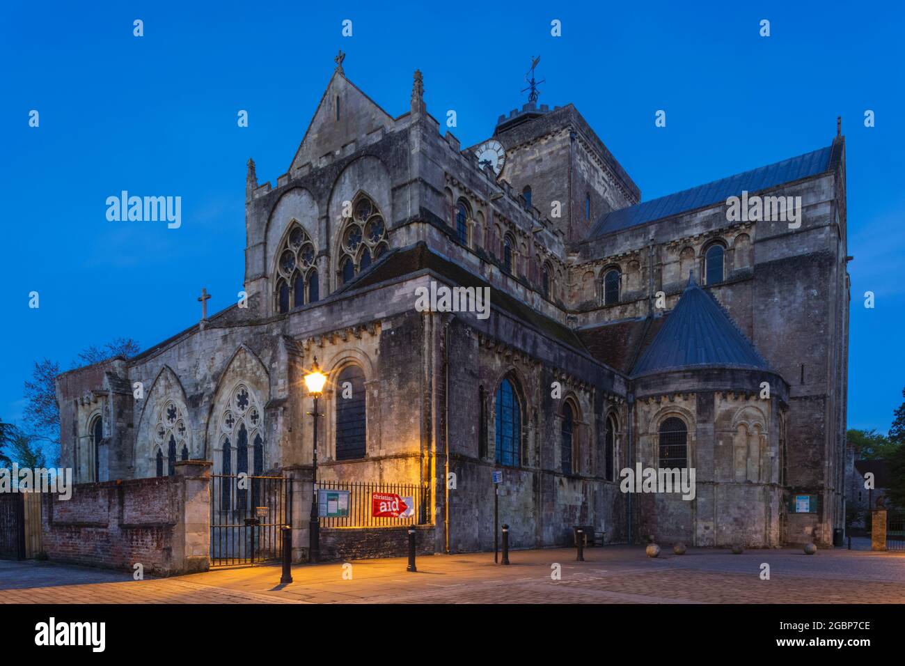
<path fill-rule="evenodd" d="M 827 146 L 796 158 L 784 159 L 776 164 L 768 164 L 766 167 L 738 173 L 729 178 L 714 180 L 697 188 L 684 189 L 675 194 L 611 211 L 596 223 L 590 237 L 604 236 L 687 210 L 713 206 L 725 202 L 729 197 L 740 196 L 742 190 L 753 193 L 824 173 L 829 169 L 832 150 L 833 146 Z"/>

